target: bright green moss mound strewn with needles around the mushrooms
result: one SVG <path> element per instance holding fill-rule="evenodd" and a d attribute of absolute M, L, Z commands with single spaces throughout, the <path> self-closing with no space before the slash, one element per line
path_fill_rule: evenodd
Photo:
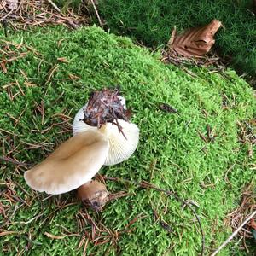
<path fill-rule="evenodd" d="M 119 85 L 133 111 L 132 122 L 140 127 L 140 143 L 131 159 L 104 166 L 101 173 L 146 180 L 196 201 L 207 254 L 230 235 L 224 218 L 237 207 L 243 186 L 252 181 L 255 162 L 255 154 L 250 158 L 247 145 L 238 141 L 237 121 L 253 119 L 256 108 L 253 90 L 243 79 L 233 71 L 223 77 L 202 68 L 194 68 L 196 76 L 192 77 L 160 63 L 159 55 L 135 46 L 130 39 L 96 27 L 76 32 L 64 28 L 19 32 L 8 40 L 18 45 L 23 42 L 19 49 L 9 45 L 14 55 L 28 54 L 7 64 L 7 73 L 0 73 L 4 155 L 33 164 L 43 160 L 72 136 L 68 117 L 73 118 L 91 90 Z M 68 63 L 58 61 L 62 57 Z M 172 105 L 180 114 L 161 112 L 160 102 Z M 44 119 L 37 109 L 41 106 L 42 110 L 43 104 Z M 199 136 L 199 132 L 207 134 L 207 124 L 216 134 L 213 143 L 205 143 Z M 49 197 L 32 191 L 24 181 L 25 170 L 1 163 L 5 217 L 0 215 L 0 223 L 2 232 L 16 232 L 1 236 L 1 255 L 81 255 L 87 241 L 85 231 L 91 230 L 81 217 L 85 209 L 73 193 Z M 99 215 L 89 212 L 96 224 L 101 222 L 113 233 L 133 229 L 119 235 L 122 255 L 198 255 L 201 235 L 188 208 L 182 209 L 178 201 L 154 190 L 114 182 L 107 185 L 111 192 L 124 190 L 131 195 L 110 202 Z M 171 224 L 172 233 L 154 221 L 152 208 Z M 131 224 L 138 216 L 144 218 Z M 48 233 L 64 237 L 53 239 Z M 114 255 L 116 248 L 110 241 L 99 246 L 89 241 L 86 252 Z M 220 255 L 232 253 L 244 254 L 231 243 Z"/>

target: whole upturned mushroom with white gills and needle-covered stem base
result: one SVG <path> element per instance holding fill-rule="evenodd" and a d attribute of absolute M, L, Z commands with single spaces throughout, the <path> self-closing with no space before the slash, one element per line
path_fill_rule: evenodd
<path fill-rule="evenodd" d="M 105 166 L 127 160 L 137 148 L 139 129 L 129 121 L 130 111 L 118 90 L 94 92 L 73 120 L 73 134 L 99 129 L 108 138 L 109 152 Z"/>

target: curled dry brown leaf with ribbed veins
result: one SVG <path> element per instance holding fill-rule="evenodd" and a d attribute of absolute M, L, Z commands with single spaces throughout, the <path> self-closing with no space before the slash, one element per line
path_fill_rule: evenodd
<path fill-rule="evenodd" d="M 178 36 L 174 30 L 169 47 L 185 57 L 204 55 L 215 43 L 213 36 L 220 26 L 219 20 L 212 20 L 207 26 L 190 28 Z"/>

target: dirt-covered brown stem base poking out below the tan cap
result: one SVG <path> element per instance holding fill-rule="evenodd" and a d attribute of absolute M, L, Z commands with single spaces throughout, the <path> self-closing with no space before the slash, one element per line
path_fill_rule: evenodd
<path fill-rule="evenodd" d="M 90 182 L 80 186 L 78 196 L 86 207 L 90 207 L 96 212 L 101 212 L 108 202 L 106 186 L 96 180 L 90 180 Z"/>

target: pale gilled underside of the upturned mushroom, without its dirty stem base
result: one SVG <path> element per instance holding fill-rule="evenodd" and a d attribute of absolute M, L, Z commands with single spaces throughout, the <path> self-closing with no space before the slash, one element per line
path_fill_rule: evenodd
<path fill-rule="evenodd" d="M 73 134 L 79 134 L 83 131 L 97 131 L 98 128 L 90 126 L 84 123 L 84 108 L 79 109 L 79 112 L 75 115 L 73 120 Z M 123 119 L 118 119 L 119 125 L 122 127 L 122 132 L 119 132 L 117 125 L 107 123 L 102 125 L 101 131 L 108 138 L 109 151 L 107 159 L 105 160 L 105 166 L 113 166 L 120 162 L 127 160 L 131 154 L 134 153 L 137 148 L 139 140 L 139 129 L 137 125 L 130 122 L 126 122 Z"/>

